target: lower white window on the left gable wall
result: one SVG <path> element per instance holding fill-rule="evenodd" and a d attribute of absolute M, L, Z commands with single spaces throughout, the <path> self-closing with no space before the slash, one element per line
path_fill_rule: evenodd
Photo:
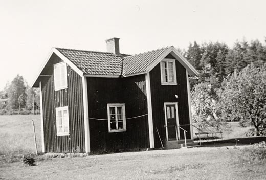
<path fill-rule="evenodd" d="M 69 135 L 69 107 L 58 107 L 55 111 L 57 136 Z"/>

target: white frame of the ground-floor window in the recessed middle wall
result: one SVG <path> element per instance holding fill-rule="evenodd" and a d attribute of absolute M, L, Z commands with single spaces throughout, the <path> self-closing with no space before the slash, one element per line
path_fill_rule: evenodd
<path fill-rule="evenodd" d="M 111 120 L 110 120 L 110 107 L 116 107 L 116 129 L 111 129 Z M 117 107 L 122 107 L 123 113 L 123 129 L 118 129 L 118 118 L 117 118 Z M 108 131 L 109 132 L 124 132 L 126 131 L 126 112 L 125 112 L 125 104 L 123 103 L 112 103 L 107 104 L 107 114 L 108 114 Z"/>

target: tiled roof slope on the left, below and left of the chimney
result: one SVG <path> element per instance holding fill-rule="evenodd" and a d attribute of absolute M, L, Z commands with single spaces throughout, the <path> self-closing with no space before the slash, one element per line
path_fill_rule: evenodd
<path fill-rule="evenodd" d="M 122 57 L 113 53 L 56 48 L 78 69 L 89 75 L 115 75 L 122 72 Z"/>

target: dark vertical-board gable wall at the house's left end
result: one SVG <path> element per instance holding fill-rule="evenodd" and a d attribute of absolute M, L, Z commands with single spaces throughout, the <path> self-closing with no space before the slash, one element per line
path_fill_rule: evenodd
<path fill-rule="evenodd" d="M 85 152 L 82 78 L 67 65 L 68 88 L 54 91 L 53 64 L 62 60 L 53 54 L 43 69 L 41 86 L 45 152 Z M 56 135 L 56 107 L 69 106 L 69 136 Z"/>

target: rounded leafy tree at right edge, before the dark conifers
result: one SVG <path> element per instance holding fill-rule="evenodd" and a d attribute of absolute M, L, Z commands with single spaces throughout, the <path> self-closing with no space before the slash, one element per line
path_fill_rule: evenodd
<path fill-rule="evenodd" d="M 219 93 L 219 109 L 224 120 L 253 123 L 255 134 L 266 125 L 266 64 L 248 65 L 232 74 Z"/>

